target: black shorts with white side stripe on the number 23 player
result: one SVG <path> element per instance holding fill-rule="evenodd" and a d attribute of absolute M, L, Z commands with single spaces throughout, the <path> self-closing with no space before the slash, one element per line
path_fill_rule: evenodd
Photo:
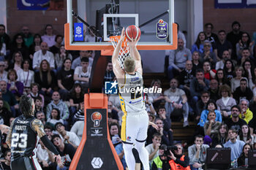
<path fill-rule="evenodd" d="M 42 170 L 37 158 L 20 157 L 15 161 L 11 161 L 12 170 Z"/>

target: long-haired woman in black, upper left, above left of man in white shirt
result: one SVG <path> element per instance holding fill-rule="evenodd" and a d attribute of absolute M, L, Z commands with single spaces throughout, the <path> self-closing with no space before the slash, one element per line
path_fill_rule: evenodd
<path fill-rule="evenodd" d="M 10 56 L 13 56 L 13 53 L 20 51 L 23 56 L 23 59 L 29 58 L 29 49 L 25 45 L 25 40 L 22 34 L 16 34 L 12 40 L 12 46 L 10 50 Z M 13 58 L 8 58 L 8 61 L 12 61 Z"/>

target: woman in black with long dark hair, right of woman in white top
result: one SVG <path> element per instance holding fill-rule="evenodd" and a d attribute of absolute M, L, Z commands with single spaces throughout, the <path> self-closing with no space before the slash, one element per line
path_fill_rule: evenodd
<path fill-rule="evenodd" d="M 47 60 L 42 60 L 39 67 L 39 72 L 34 74 L 34 82 L 40 85 L 39 93 L 45 96 L 45 101 L 49 101 L 56 87 L 56 76 L 50 69 L 50 64 Z M 46 98 L 48 96 L 48 98 Z"/>

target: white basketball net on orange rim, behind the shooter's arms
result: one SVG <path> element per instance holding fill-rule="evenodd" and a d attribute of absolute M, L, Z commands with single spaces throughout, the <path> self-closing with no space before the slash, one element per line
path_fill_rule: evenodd
<path fill-rule="evenodd" d="M 120 39 L 120 36 L 110 36 L 110 40 L 114 48 L 116 48 L 116 45 L 119 42 L 119 39 Z M 121 49 L 118 55 L 118 61 L 122 69 L 124 69 L 124 59 L 129 57 L 129 55 L 130 54 L 129 54 L 128 41 L 125 38 L 121 45 Z"/>

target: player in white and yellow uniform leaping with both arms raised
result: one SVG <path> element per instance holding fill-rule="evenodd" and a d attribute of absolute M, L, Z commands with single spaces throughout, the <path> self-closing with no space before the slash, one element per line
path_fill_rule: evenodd
<path fill-rule="evenodd" d="M 129 42 L 130 57 L 124 59 L 124 70 L 118 63 L 118 53 L 121 43 L 124 41 L 124 28 L 121 38 L 113 52 L 113 72 L 118 80 L 119 88 L 132 89 L 143 87 L 143 70 L 141 66 L 140 53 L 136 47 L 139 39 Z M 148 114 L 145 109 L 142 93 L 130 93 L 127 90 L 119 93 L 121 109 L 124 112 L 121 124 L 121 140 L 124 143 L 124 155 L 129 170 L 135 169 L 135 158 L 132 154 L 132 147 L 138 150 L 143 168 L 149 170 L 148 152 L 145 148 L 148 130 Z"/>

